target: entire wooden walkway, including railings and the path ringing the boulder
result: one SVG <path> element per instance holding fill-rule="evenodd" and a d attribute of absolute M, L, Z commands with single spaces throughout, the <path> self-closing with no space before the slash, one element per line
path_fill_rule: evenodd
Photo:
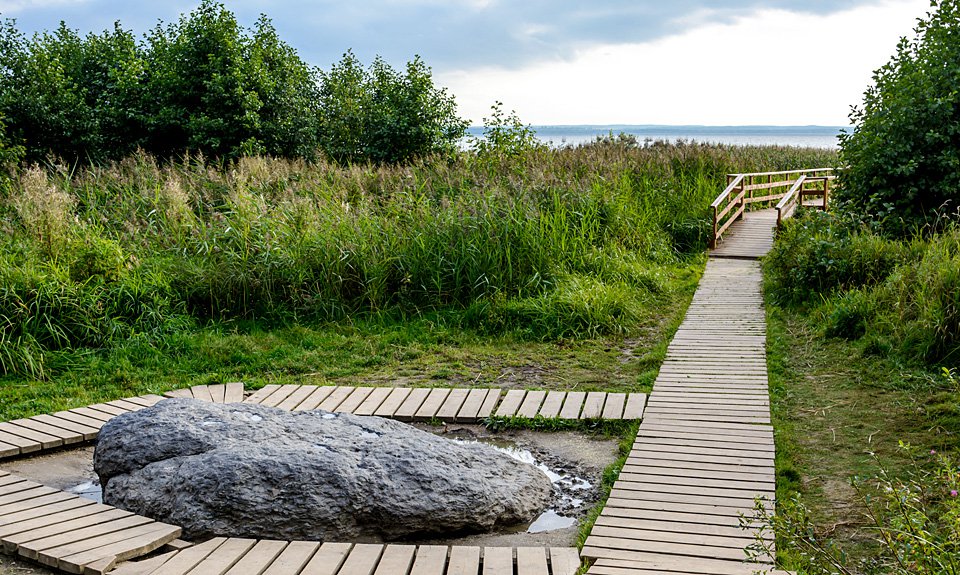
<path fill-rule="evenodd" d="M 639 419 L 639 432 L 582 550 L 380 545 L 215 538 L 0 471 L 0 543 L 67 573 L 114 575 L 748 575 L 762 525 L 741 526 L 758 498 L 773 507 L 774 438 L 766 322 L 757 259 L 773 227 L 803 206 L 826 209 L 830 170 L 730 176 L 712 204 L 710 260 L 652 393 L 415 389 L 242 384 L 169 392 L 218 403 L 326 409 L 405 421 L 475 422 L 490 416 Z M 766 209 L 763 204 L 772 204 Z M 96 438 L 110 418 L 157 395 L 0 423 L 0 459 Z"/>

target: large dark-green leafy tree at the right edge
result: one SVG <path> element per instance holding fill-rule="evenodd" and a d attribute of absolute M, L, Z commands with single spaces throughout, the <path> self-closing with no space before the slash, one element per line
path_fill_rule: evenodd
<path fill-rule="evenodd" d="M 934 0 L 854 108 L 838 198 L 890 235 L 960 206 L 960 2 Z"/>

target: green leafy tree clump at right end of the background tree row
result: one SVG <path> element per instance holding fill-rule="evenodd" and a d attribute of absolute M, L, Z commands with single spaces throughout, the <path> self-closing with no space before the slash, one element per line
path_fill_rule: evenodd
<path fill-rule="evenodd" d="M 401 73 L 379 57 L 364 70 L 352 52 L 322 75 L 320 118 L 321 148 L 344 163 L 452 153 L 467 128 L 419 57 Z"/>

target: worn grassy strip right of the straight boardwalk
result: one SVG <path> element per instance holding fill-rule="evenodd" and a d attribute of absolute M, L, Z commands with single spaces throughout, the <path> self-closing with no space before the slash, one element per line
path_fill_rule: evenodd
<path fill-rule="evenodd" d="M 818 539 L 835 542 L 849 566 L 876 559 L 876 532 L 863 515 L 853 476 L 907 473 L 898 448 L 955 451 L 956 398 L 935 370 L 870 353 L 863 343 L 824 338 L 816 320 L 768 305 L 768 367 L 777 443 L 777 499 L 799 493 Z M 797 550 L 778 544 L 787 568 Z"/>

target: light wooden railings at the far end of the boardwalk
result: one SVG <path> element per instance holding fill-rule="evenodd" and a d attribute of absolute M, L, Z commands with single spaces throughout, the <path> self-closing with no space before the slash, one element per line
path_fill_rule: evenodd
<path fill-rule="evenodd" d="M 822 197 L 823 201 L 817 207 L 827 209 L 829 182 L 833 178 L 832 168 L 727 175 L 727 187 L 710 204 L 713 213 L 710 247 L 717 247 L 723 232 L 743 216 L 750 204 L 769 204 L 779 200 L 777 223 L 782 218 L 790 217 L 798 205 L 810 205 L 803 203 L 806 197 Z"/>

